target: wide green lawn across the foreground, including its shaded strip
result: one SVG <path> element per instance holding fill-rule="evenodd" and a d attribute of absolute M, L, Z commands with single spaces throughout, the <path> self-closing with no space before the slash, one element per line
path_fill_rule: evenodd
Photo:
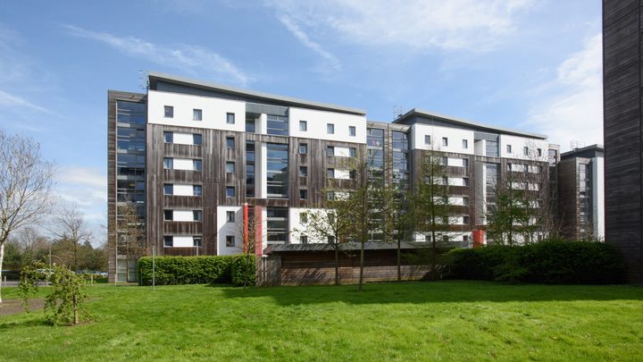
<path fill-rule="evenodd" d="M 643 360 L 643 288 L 94 286 L 93 321 L 0 316 L 0 360 Z M 5 288 L 5 299 L 16 290 Z"/>

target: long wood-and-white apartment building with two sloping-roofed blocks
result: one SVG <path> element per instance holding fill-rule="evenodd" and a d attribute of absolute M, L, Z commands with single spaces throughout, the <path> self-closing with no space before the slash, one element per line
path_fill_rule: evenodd
<path fill-rule="evenodd" d="M 422 160 L 438 151 L 456 206 L 447 239 L 464 244 L 472 235 L 484 242 L 480 231 L 501 185 L 548 189 L 545 136 L 419 109 L 371 122 L 361 109 L 160 73 L 149 74 L 146 94 L 110 91 L 108 106 L 109 271 L 120 282 L 136 277 L 117 242 L 128 205 L 146 224 L 147 253 L 180 256 L 238 253 L 249 205 L 260 220 L 261 254 L 316 241 L 293 231 L 305 229 L 302 215 L 327 197 L 321 189 L 330 179 L 352 187 L 352 157 L 389 163 L 386 180 L 413 189 Z M 380 239 L 374 231 L 372 240 Z"/>

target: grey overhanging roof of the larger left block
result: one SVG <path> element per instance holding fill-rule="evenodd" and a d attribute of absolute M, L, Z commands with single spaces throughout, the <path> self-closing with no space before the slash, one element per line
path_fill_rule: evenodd
<path fill-rule="evenodd" d="M 210 81 L 192 80 L 192 79 L 169 75 L 161 72 L 148 72 L 147 77 L 149 78 L 149 81 L 150 81 L 150 87 L 152 87 L 153 89 L 156 87 L 157 80 L 164 80 L 170 83 L 176 83 L 183 86 L 203 88 L 206 90 L 214 90 L 221 93 L 230 94 L 232 96 L 253 97 L 258 100 L 279 102 L 279 103 L 285 103 L 288 105 L 301 105 L 307 108 L 313 108 L 313 109 L 331 111 L 331 112 L 340 112 L 345 114 L 366 115 L 366 111 L 359 108 L 347 107 L 343 105 L 331 105 L 328 103 L 315 102 L 315 101 L 299 99 L 294 97 L 278 96 L 270 93 L 258 92 L 255 90 L 225 86 L 225 85 L 210 82 Z"/>

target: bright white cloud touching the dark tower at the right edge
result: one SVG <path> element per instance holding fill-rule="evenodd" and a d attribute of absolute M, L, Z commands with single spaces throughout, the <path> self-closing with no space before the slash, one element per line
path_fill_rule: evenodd
<path fill-rule="evenodd" d="M 602 37 L 589 38 L 583 49 L 558 66 L 547 89 L 554 94 L 538 102 L 528 124 L 549 136 L 549 142 L 570 149 L 571 141 L 603 144 Z"/>

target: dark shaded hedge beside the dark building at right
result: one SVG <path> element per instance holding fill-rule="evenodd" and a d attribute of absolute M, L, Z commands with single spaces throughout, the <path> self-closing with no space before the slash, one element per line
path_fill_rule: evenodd
<path fill-rule="evenodd" d="M 448 253 L 449 277 L 497 282 L 612 284 L 625 281 L 625 267 L 610 245 L 589 241 L 543 241 L 519 247 L 494 245 Z"/>

